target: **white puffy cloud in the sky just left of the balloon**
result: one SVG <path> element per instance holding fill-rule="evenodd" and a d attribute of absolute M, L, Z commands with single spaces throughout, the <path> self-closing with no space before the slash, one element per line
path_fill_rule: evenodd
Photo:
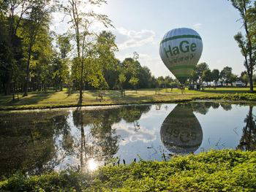
<path fill-rule="evenodd" d="M 141 47 L 154 42 L 155 32 L 147 29 L 140 31 L 128 30 L 126 28 L 116 28 L 116 43 L 119 50 L 131 47 Z"/>

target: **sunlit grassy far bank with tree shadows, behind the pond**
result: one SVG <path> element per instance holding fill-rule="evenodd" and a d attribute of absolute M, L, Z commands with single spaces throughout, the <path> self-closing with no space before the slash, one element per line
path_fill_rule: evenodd
<path fill-rule="evenodd" d="M 126 91 L 126 96 L 121 97 L 119 91 L 105 91 L 103 100 L 97 98 L 94 91 L 84 91 L 83 106 L 108 105 L 108 104 L 145 104 L 159 102 L 191 101 L 195 99 L 226 99 L 232 101 L 256 102 L 255 94 L 248 93 L 248 88 L 217 88 L 205 91 L 185 91 L 181 94 L 178 89 L 162 89 L 156 94 L 155 90 Z M 0 110 L 29 110 L 58 107 L 76 107 L 78 93 L 68 96 L 66 91 L 50 91 L 48 93 L 31 92 L 29 96 L 18 101 L 12 101 L 12 96 L 0 96 Z"/>

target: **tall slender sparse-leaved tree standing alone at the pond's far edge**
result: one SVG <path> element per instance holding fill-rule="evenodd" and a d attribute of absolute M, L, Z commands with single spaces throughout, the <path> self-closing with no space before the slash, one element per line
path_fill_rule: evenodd
<path fill-rule="evenodd" d="M 100 7 L 105 4 L 105 0 L 68 0 L 67 3 L 64 1 L 61 7 L 64 12 L 69 15 L 70 21 L 72 22 L 72 29 L 75 36 L 75 47 L 76 47 L 76 63 L 78 67 L 77 78 L 79 78 L 79 100 L 78 104 L 83 102 L 83 84 L 87 78 L 91 78 L 90 75 L 85 73 L 86 60 L 91 58 L 91 39 L 95 37 L 95 33 L 91 30 L 91 24 L 95 20 L 102 23 L 105 27 L 112 26 L 111 21 L 107 15 L 102 15 L 90 10 L 91 6 Z M 78 64 L 79 63 L 79 64 Z M 93 64 L 91 61 L 87 64 Z M 84 77 L 86 75 L 86 77 Z M 91 80 L 90 80 L 91 81 Z"/>

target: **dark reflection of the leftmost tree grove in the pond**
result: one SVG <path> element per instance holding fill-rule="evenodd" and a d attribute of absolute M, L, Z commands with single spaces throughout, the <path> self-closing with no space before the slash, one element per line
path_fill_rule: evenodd
<path fill-rule="evenodd" d="M 68 112 L 45 111 L 1 115 L 0 178 L 17 171 L 41 174 L 61 161 L 59 134 L 68 132 Z M 67 145 L 67 140 L 63 139 Z"/>

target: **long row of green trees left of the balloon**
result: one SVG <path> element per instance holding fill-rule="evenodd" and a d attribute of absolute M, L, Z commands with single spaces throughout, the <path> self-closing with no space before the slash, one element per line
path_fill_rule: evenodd
<path fill-rule="evenodd" d="M 151 75 L 138 62 L 139 55 L 118 61 L 116 37 L 109 31 L 96 33 L 94 21 L 111 27 L 107 15 L 89 9 L 105 0 L 70 0 L 53 4 L 50 0 L 0 1 L 0 91 L 5 95 L 29 91 L 56 91 L 67 86 L 83 89 L 156 88 L 170 86 L 173 79 Z M 80 9 L 83 7 L 84 9 Z M 50 31 L 51 14 L 63 12 L 71 31 Z M 18 94 L 17 94 L 18 96 Z"/>

